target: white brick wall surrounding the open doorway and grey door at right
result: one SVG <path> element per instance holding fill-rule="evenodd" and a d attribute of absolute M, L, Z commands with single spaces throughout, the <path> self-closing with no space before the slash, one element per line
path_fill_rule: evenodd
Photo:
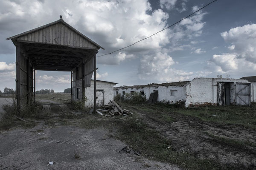
<path fill-rule="evenodd" d="M 186 107 L 218 103 L 218 82 L 230 82 L 230 102 L 235 102 L 235 83 L 250 83 L 244 79 L 195 78 L 186 85 Z M 251 91 L 252 93 L 252 91 Z"/>

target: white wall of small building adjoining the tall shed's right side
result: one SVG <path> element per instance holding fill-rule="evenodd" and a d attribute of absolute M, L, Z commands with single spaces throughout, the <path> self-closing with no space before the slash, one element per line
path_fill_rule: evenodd
<path fill-rule="evenodd" d="M 109 100 L 113 100 L 114 98 L 114 85 L 110 82 L 96 82 L 96 90 L 100 90 L 96 92 L 96 95 L 99 97 L 97 99 L 97 105 L 102 105 L 102 90 L 105 91 L 104 93 L 104 104 L 107 104 Z M 85 88 L 85 96 L 87 97 L 87 102 L 85 102 L 85 107 L 93 107 L 94 105 L 94 81 L 91 81 L 91 86 Z"/>

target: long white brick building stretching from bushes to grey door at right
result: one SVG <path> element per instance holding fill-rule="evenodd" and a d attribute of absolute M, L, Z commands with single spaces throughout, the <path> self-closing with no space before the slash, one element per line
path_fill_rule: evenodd
<path fill-rule="evenodd" d="M 157 101 L 175 103 L 185 101 L 186 107 L 201 105 L 250 105 L 254 101 L 250 82 L 244 79 L 195 78 L 192 81 L 162 84 L 122 86 L 114 88 L 115 95 L 134 91 L 146 99 L 158 91 Z"/>

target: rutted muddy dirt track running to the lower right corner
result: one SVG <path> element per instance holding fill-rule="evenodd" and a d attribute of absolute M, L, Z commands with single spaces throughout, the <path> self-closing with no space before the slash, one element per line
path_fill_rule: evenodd
<path fill-rule="evenodd" d="M 139 113 L 145 123 L 158 130 L 164 138 L 171 140 L 171 147 L 177 151 L 187 152 L 200 159 L 217 160 L 230 168 L 256 169 L 255 147 L 234 147 L 207 135 L 211 133 L 214 136 L 239 141 L 247 140 L 256 144 L 255 130 L 239 125 L 204 122 L 199 118 L 180 113 L 168 113 L 176 121 L 167 123 L 157 119 L 152 113 L 144 113 L 134 107 L 129 107 L 129 110 Z M 161 113 L 157 112 L 156 114 Z"/>

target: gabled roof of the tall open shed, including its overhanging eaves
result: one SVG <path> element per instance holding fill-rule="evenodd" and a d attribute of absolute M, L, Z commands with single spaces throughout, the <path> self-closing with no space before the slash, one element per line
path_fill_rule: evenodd
<path fill-rule="evenodd" d="M 59 23 L 63 24 L 64 27 L 60 27 L 60 26 L 58 27 Z M 52 28 L 52 29 L 49 29 L 49 28 Z M 66 35 L 66 38 L 69 38 L 69 39 L 65 39 L 65 40 L 61 39 L 58 42 L 56 39 L 54 39 L 54 37 L 51 37 L 51 36 L 53 36 L 53 34 L 55 36 L 57 36 L 57 34 L 59 34 L 60 37 L 63 36 L 64 29 L 68 30 L 70 32 L 70 35 Z M 72 35 L 71 35 L 71 33 L 72 33 Z M 75 34 L 73 35 L 73 33 L 75 33 Z M 48 34 L 49 38 L 48 38 L 48 40 L 45 40 L 45 39 L 47 39 L 46 38 L 47 34 Z M 72 36 L 72 39 L 71 39 L 71 36 Z M 34 39 L 33 39 L 33 37 L 34 37 Z M 60 38 L 60 37 L 58 37 L 58 38 Z M 62 20 L 62 19 L 54 21 L 54 22 L 49 23 L 49 24 L 46 24 L 44 26 L 32 29 L 32 30 L 29 30 L 29 31 L 26 31 L 26 32 L 23 32 L 21 34 L 17 34 L 15 36 L 6 38 L 6 40 L 12 40 L 12 41 L 17 40 L 17 41 L 21 41 L 21 42 L 22 41 L 28 41 L 28 42 L 30 41 L 30 42 L 41 42 L 41 43 L 48 43 L 49 42 L 50 44 L 52 43 L 52 44 L 56 44 L 56 45 L 66 45 L 66 44 L 61 44 L 62 41 L 64 43 L 65 42 L 68 43 L 67 41 L 69 41 L 70 43 L 73 43 L 74 40 L 75 41 L 78 40 L 78 43 L 81 42 L 81 45 L 80 44 L 78 45 L 78 43 L 76 43 L 76 44 L 73 44 L 74 47 L 83 47 L 84 44 L 85 44 L 84 41 L 87 41 L 87 42 L 89 42 L 88 47 L 95 48 L 95 46 L 96 46 L 98 49 L 99 48 L 104 49 L 102 46 L 100 46 L 99 44 L 97 44 L 93 40 L 90 40 L 90 38 L 86 37 L 84 34 L 77 31 L 75 28 L 73 28 L 72 26 L 70 26 L 69 24 L 64 22 L 64 20 Z M 67 46 L 73 46 L 73 45 L 67 45 Z"/>

